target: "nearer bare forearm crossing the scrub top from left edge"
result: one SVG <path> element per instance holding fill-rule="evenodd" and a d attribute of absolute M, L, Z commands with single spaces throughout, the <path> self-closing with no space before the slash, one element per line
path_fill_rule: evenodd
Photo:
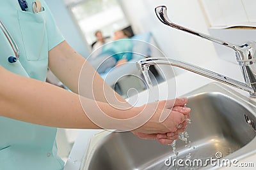
<path fill-rule="evenodd" d="M 0 116 L 51 127 L 99 129 L 84 113 L 79 96 L 49 83 L 10 73 L 0 66 Z M 19 88 L 13 86 L 19 82 Z M 92 114 L 102 114 L 95 101 L 81 98 Z M 107 103 L 96 103 L 102 111 L 116 118 L 132 117 L 131 110 L 120 111 Z M 113 128 L 109 125 L 109 128 Z"/>

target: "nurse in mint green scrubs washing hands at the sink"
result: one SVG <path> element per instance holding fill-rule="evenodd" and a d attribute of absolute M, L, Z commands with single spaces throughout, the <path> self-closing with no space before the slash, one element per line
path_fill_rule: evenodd
<path fill-rule="evenodd" d="M 177 139 L 178 132 L 184 131 L 190 111 L 184 106 L 186 98 L 160 101 L 127 110 L 116 109 L 104 97 L 115 92 L 104 85 L 93 67 L 68 45 L 56 27 L 47 4 L 41 1 L 44 11 L 33 13 L 33 1 L 27 0 L 27 3 L 26 11 L 21 10 L 17 0 L 3 0 L 0 6 L 0 19 L 20 50 L 20 59 L 15 63 L 8 62 L 8 57 L 14 53 L 3 32 L 0 32 L 1 170 L 63 169 L 63 161 L 57 155 L 56 127 L 101 128 L 84 112 L 94 115 L 104 113 L 122 120 L 134 117 L 146 108 L 153 115 L 148 122 L 136 129 L 125 124 L 124 129 L 128 127 L 140 138 L 157 139 L 163 144 L 172 143 L 173 139 Z M 79 73 L 83 66 L 86 68 L 83 76 L 88 78 L 83 85 L 92 87 L 93 84 L 96 99 L 92 99 L 90 88 L 85 88 L 83 97 L 77 95 Z M 45 83 L 47 67 L 72 92 Z M 93 80 L 92 74 L 95 74 Z M 122 101 L 123 107 L 129 106 L 122 97 L 115 95 L 116 104 Z M 164 122 L 159 122 L 163 112 L 170 113 L 170 116 Z M 102 123 L 109 129 L 115 129 L 115 125 L 113 127 L 109 123 L 108 126 L 104 119 Z"/>

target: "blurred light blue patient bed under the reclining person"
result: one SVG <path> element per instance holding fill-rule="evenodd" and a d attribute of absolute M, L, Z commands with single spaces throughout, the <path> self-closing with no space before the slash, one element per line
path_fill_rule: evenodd
<path fill-rule="evenodd" d="M 118 90 L 123 94 L 131 87 L 136 88 L 138 91 L 145 89 L 143 81 L 138 80 L 141 77 L 141 72 L 136 66 L 136 61 L 143 59 L 143 57 L 149 57 L 151 53 L 151 32 L 137 34 L 132 36 L 131 39 L 133 40 L 132 59 L 122 64 L 122 66 L 110 68 L 105 73 L 100 74 L 104 81 L 113 89 L 116 90 L 115 85 L 118 85 Z"/>

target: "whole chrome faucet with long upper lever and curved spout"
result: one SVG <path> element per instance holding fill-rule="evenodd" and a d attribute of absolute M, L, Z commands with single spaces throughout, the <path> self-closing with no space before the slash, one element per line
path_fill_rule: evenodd
<path fill-rule="evenodd" d="M 220 39 L 212 38 L 207 34 L 202 34 L 200 32 L 192 31 L 185 27 L 182 27 L 177 24 L 173 24 L 167 16 L 167 8 L 166 6 L 157 6 L 155 9 L 156 15 L 163 24 L 173 27 L 175 29 L 179 29 L 181 31 L 189 32 L 196 36 L 200 36 L 201 38 L 208 39 L 214 43 L 218 43 L 220 45 L 227 46 L 232 48 L 236 52 L 236 59 L 241 67 L 241 71 L 244 76 L 245 83 L 234 80 L 232 78 L 228 78 L 227 76 L 223 76 L 218 73 L 214 73 L 202 67 L 198 67 L 192 64 L 188 64 L 186 62 L 182 62 L 179 60 L 173 59 L 165 59 L 165 58 L 146 58 L 141 59 L 137 62 L 138 67 L 141 71 L 148 71 L 150 65 L 156 64 L 164 64 L 164 65 L 172 65 L 176 67 L 180 67 L 182 69 L 186 69 L 188 71 L 192 71 L 193 73 L 200 74 L 202 76 L 206 76 L 208 78 L 212 78 L 213 80 L 220 81 L 227 85 L 231 85 L 233 87 L 237 87 L 238 89 L 245 90 L 250 92 L 250 96 L 256 98 L 256 43 L 254 41 L 248 41 L 243 45 L 234 45 L 232 43 L 228 43 L 226 41 L 222 41 Z"/>

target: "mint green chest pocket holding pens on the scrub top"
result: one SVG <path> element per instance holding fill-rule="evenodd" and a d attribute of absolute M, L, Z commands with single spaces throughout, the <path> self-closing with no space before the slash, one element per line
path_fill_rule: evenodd
<path fill-rule="evenodd" d="M 20 31 L 28 60 L 45 60 L 48 57 L 45 11 L 31 13 L 18 11 Z"/>

